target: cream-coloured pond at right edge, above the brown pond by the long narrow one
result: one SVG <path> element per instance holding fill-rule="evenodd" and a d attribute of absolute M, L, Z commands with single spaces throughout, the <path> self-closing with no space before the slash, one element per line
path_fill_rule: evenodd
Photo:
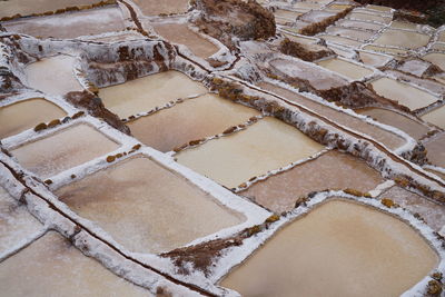
<path fill-rule="evenodd" d="M 438 100 L 433 95 L 390 78 L 380 78 L 373 81 L 370 85 L 379 96 L 396 100 L 411 110 L 429 106 Z"/>

